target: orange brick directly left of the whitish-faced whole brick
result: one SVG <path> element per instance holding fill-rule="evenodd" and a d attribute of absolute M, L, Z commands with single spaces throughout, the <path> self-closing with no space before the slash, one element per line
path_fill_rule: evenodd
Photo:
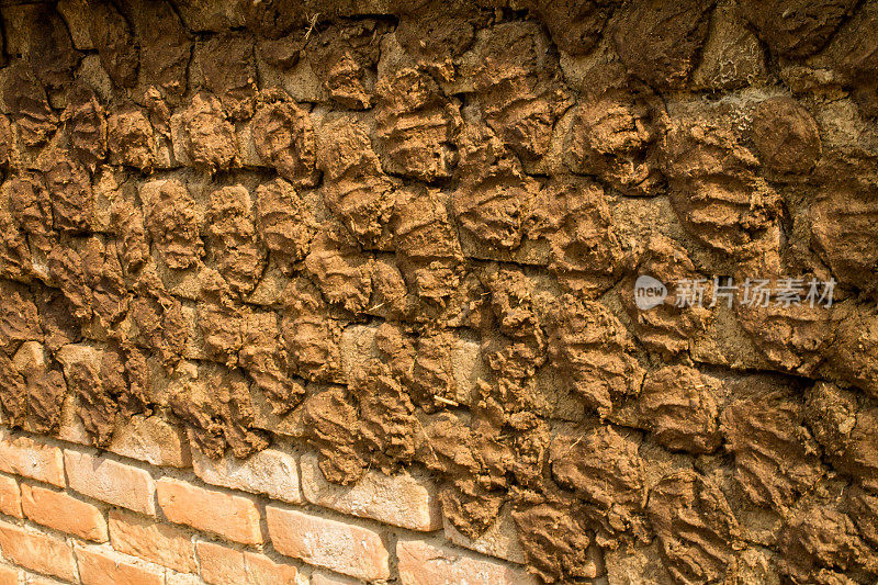
<path fill-rule="evenodd" d="M 244 544 L 261 544 L 261 516 L 256 499 L 205 490 L 172 477 L 156 483 L 161 511 L 172 522 L 215 532 Z"/>

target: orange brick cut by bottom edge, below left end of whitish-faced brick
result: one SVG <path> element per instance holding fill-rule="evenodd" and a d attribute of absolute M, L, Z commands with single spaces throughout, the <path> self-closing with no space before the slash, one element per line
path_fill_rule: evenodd
<path fill-rule="evenodd" d="M 296 583 L 299 570 L 275 563 L 264 554 L 238 551 L 213 542 L 199 542 L 201 578 L 210 585 L 286 585 Z"/>

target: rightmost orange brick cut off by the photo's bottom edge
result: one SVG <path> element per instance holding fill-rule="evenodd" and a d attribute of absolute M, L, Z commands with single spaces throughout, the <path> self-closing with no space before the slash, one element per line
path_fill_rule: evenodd
<path fill-rule="evenodd" d="M 403 585 L 534 585 L 537 581 L 518 566 L 481 559 L 424 540 L 396 542 L 399 582 Z"/>

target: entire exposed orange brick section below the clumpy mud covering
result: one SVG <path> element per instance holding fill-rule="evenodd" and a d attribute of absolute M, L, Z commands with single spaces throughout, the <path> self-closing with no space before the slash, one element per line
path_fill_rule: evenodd
<path fill-rule="evenodd" d="M 0 438 L 2 585 L 534 583 L 506 530 L 466 541 L 442 529 L 426 474 L 335 485 L 291 445 L 239 461 L 184 435 L 108 451 Z"/>

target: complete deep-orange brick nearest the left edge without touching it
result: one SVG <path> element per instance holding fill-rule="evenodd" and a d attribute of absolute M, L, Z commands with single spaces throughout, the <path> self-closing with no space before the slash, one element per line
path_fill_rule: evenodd
<path fill-rule="evenodd" d="M 36 524 L 86 540 L 106 542 L 106 520 L 101 510 L 64 492 L 22 484 L 21 505 L 24 515 Z"/>

